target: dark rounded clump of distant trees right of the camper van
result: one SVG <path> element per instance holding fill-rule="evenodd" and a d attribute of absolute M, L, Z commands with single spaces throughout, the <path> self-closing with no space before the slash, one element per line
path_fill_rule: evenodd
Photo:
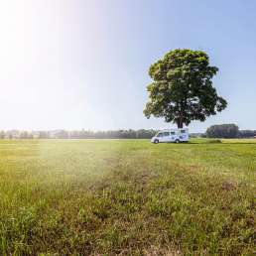
<path fill-rule="evenodd" d="M 237 138 L 239 128 L 235 124 L 212 125 L 206 130 L 208 138 Z"/>

